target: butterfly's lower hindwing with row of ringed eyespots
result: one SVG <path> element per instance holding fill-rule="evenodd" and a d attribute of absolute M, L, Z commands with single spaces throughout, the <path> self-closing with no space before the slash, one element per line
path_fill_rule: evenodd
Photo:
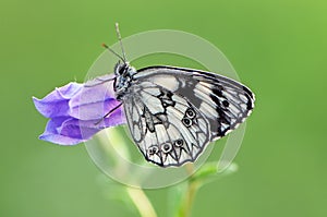
<path fill-rule="evenodd" d="M 209 124 L 187 99 L 143 81 L 131 87 L 124 111 L 133 140 L 144 157 L 159 166 L 194 161 L 209 142 Z"/>

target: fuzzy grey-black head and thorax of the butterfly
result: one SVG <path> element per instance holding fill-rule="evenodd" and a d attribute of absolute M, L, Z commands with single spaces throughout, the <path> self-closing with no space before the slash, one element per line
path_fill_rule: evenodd
<path fill-rule="evenodd" d="M 118 62 L 114 67 L 114 83 L 113 91 L 116 98 L 121 100 L 122 97 L 128 93 L 129 87 L 133 81 L 133 75 L 136 73 L 135 68 L 131 67 L 129 62 Z"/>

